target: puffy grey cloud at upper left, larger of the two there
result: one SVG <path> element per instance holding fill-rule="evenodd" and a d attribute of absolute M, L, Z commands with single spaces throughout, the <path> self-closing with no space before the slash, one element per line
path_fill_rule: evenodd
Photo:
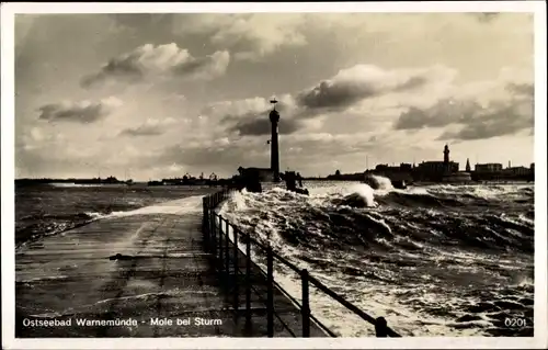
<path fill-rule="evenodd" d="M 196 58 L 174 43 L 158 46 L 145 44 L 111 58 L 98 72 L 84 76 L 80 83 L 90 88 L 107 80 L 136 82 L 152 76 L 208 80 L 224 75 L 229 61 L 228 52 Z"/>

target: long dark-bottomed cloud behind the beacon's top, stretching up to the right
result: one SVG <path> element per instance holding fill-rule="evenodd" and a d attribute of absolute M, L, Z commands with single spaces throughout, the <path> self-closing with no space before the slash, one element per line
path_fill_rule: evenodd
<path fill-rule="evenodd" d="M 344 111 L 353 104 L 385 93 L 422 88 L 432 81 L 452 80 L 454 70 L 433 66 L 423 69 L 384 70 L 372 65 L 357 65 L 294 95 L 285 94 L 276 109 L 283 115 L 281 134 L 293 134 L 306 127 L 309 120 Z M 206 108 L 204 114 L 221 114 L 227 129 L 240 135 L 270 134 L 272 106 L 262 98 L 225 101 Z M 226 111 L 222 115 L 221 111 Z"/>

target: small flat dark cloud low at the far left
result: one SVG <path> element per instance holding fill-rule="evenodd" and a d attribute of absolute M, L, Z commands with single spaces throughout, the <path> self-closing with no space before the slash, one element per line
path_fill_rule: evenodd
<path fill-rule="evenodd" d="M 38 109 L 41 120 L 93 123 L 109 115 L 121 101 L 115 98 L 99 102 L 50 103 Z"/>

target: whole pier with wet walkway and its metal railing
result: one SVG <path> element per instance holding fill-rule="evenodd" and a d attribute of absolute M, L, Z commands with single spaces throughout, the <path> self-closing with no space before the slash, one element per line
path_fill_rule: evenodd
<path fill-rule="evenodd" d="M 310 312 L 308 285 L 378 337 L 398 336 L 218 217 L 228 195 L 172 201 L 161 204 L 165 212 L 99 219 L 30 244 L 15 259 L 16 337 L 335 337 Z M 250 258 L 252 247 L 265 250 L 266 271 Z M 301 274 L 301 302 L 274 280 L 273 261 Z M 65 326 L 28 326 L 38 320 Z"/>

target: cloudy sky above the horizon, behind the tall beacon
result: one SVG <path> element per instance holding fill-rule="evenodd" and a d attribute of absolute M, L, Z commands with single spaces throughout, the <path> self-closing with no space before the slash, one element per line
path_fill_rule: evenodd
<path fill-rule="evenodd" d="M 534 161 L 529 13 L 15 16 L 15 177 Z"/>

